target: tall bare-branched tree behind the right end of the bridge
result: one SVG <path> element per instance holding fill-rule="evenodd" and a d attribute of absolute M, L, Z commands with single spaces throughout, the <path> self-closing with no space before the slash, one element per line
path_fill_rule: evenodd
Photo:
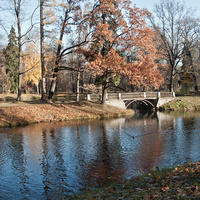
<path fill-rule="evenodd" d="M 155 18 L 151 18 L 151 21 L 161 43 L 159 51 L 170 66 L 169 90 L 173 91 L 174 77 L 178 74 L 178 65 L 184 56 L 186 38 L 188 40 L 190 37 L 188 41 L 191 42 L 197 35 L 197 29 L 191 24 L 193 10 L 176 0 L 161 0 L 155 4 L 154 13 Z"/>

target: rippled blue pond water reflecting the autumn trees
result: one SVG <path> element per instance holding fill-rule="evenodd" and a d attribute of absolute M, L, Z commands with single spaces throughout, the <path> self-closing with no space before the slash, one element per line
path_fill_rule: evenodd
<path fill-rule="evenodd" d="M 0 129 L 0 199 L 61 199 L 86 187 L 200 160 L 200 114 Z"/>

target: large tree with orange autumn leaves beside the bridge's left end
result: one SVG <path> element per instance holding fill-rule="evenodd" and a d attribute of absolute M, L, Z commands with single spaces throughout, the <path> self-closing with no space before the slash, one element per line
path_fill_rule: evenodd
<path fill-rule="evenodd" d="M 88 68 L 102 78 L 102 103 L 106 101 L 109 83 L 116 75 L 125 75 L 138 87 L 158 87 L 163 78 L 158 70 L 154 32 L 145 20 L 145 9 L 131 6 L 129 0 L 98 0 L 89 14 L 93 31 L 88 49 L 82 49 Z M 127 63 L 126 55 L 135 59 Z"/>

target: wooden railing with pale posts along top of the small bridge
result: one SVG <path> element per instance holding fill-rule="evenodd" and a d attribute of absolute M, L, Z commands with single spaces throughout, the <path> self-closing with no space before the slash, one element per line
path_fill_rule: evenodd
<path fill-rule="evenodd" d="M 165 97 L 175 97 L 174 92 L 130 92 L 130 93 L 107 93 L 106 99 L 157 99 Z M 87 94 L 87 100 L 97 101 L 101 100 L 101 94 Z"/>

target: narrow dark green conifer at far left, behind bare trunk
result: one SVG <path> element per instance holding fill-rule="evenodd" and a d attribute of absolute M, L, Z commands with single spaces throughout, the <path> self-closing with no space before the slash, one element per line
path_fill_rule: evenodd
<path fill-rule="evenodd" d="M 10 34 L 8 35 L 8 45 L 4 50 L 6 74 L 12 84 L 11 90 L 14 92 L 18 88 L 18 46 L 15 29 L 11 27 Z"/>

